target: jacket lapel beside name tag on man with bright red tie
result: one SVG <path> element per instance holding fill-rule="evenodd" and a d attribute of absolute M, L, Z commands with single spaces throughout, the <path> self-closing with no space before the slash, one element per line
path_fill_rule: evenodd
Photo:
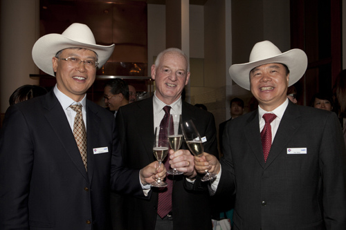
<path fill-rule="evenodd" d="M 275 160 L 277 155 L 283 151 L 284 146 L 286 146 L 294 136 L 294 133 L 298 131 L 298 128 L 301 126 L 299 117 L 300 112 L 296 108 L 296 105 L 289 102 L 289 105 L 282 116 L 279 128 L 277 128 L 273 144 L 271 145 L 271 151 L 266 160 L 266 167 Z"/>

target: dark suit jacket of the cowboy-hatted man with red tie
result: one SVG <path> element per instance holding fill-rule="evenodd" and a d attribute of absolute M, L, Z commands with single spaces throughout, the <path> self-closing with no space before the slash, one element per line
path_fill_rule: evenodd
<path fill-rule="evenodd" d="M 345 143 L 334 113 L 289 102 L 264 163 L 256 110 L 227 124 L 224 149 L 217 193 L 236 193 L 234 229 L 346 229 Z"/>

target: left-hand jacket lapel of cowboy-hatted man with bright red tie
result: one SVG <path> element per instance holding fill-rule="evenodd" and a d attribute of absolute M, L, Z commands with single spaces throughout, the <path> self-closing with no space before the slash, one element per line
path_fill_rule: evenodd
<path fill-rule="evenodd" d="M 264 168 L 264 157 L 263 157 L 263 149 L 260 135 L 260 124 L 258 119 L 258 110 L 248 118 L 247 124 L 244 127 L 244 135 L 246 137 L 246 141 L 249 143 L 249 146 L 255 155 L 257 161 L 261 164 L 262 168 Z"/>

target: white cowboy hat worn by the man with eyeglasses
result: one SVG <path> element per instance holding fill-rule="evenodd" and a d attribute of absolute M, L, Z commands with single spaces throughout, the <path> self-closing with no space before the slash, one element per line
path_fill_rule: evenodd
<path fill-rule="evenodd" d="M 81 23 L 73 23 L 62 34 L 48 34 L 40 37 L 33 47 L 33 60 L 41 70 L 48 75 L 54 75 L 52 58 L 57 52 L 66 48 L 86 48 L 98 54 L 98 68 L 103 66 L 111 57 L 114 50 L 111 46 L 96 44 L 90 28 Z"/>

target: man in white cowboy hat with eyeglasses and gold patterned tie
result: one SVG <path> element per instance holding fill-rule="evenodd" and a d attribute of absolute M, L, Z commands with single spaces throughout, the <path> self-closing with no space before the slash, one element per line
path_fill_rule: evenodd
<path fill-rule="evenodd" d="M 33 60 L 57 84 L 6 112 L 0 135 L 1 230 L 111 229 L 116 124 L 111 113 L 86 99 L 86 90 L 113 48 L 95 44 L 90 28 L 80 23 L 36 41 Z M 134 172 L 140 191 L 139 178 L 153 182 L 156 163 L 141 172 L 141 177 Z"/>

